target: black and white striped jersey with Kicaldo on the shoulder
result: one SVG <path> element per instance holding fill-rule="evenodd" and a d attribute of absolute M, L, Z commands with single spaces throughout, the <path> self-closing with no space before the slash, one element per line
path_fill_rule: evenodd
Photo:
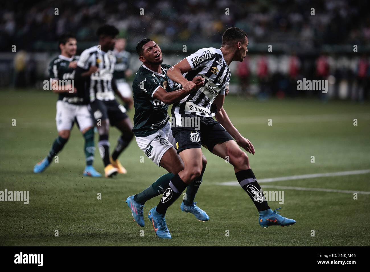
<path fill-rule="evenodd" d="M 184 74 L 184 77 L 191 81 L 196 75 L 202 75 L 205 85 L 175 103 L 172 106 L 172 115 L 175 115 L 175 118 L 190 113 L 205 117 L 215 116 L 216 106 L 212 103 L 219 93 L 225 94 L 231 75 L 221 50 L 213 47 L 203 48 L 186 57 L 186 60 L 192 71 Z"/>

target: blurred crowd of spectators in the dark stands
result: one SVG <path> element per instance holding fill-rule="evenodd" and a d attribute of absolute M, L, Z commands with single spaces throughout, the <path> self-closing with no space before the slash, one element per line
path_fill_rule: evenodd
<path fill-rule="evenodd" d="M 0 51 L 13 44 L 30 51 L 66 31 L 78 41 L 94 41 L 103 23 L 114 24 L 131 41 L 148 36 L 161 43 L 219 43 L 223 30 L 236 26 L 249 34 L 251 44 L 273 41 L 300 50 L 366 44 L 368 11 L 366 0 L 14 0 L 0 10 Z"/>

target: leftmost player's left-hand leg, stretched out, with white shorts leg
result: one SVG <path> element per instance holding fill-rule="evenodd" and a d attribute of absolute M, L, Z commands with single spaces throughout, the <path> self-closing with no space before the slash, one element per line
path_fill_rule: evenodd
<path fill-rule="evenodd" d="M 65 143 L 67 143 L 74 120 L 74 115 L 71 114 L 68 106 L 70 105 L 67 105 L 67 102 L 57 102 L 57 114 L 55 120 L 57 123 L 58 137 L 55 138 L 51 145 L 48 155 L 34 166 L 34 173 L 41 173 L 44 171 L 53 161 L 54 156 L 58 154 L 63 149 Z"/>

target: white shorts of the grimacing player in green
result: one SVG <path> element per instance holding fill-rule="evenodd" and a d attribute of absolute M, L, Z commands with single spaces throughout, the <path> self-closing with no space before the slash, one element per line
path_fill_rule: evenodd
<path fill-rule="evenodd" d="M 176 145 L 176 140 L 171 133 L 171 123 L 167 122 L 164 128 L 146 136 L 136 137 L 140 149 L 149 159 L 159 166 L 163 154 Z"/>

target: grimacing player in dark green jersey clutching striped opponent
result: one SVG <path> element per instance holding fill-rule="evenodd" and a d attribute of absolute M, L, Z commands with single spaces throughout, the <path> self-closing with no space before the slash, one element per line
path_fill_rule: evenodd
<path fill-rule="evenodd" d="M 162 51 L 151 39 L 140 40 L 136 51 L 142 65 L 135 75 L 132 89 L 134 91 L 134 128 L 136 142 L 144 154 L 157 166 L 168 171 L 141 193 L 129 196 L 126 200 L 132 216 L 138 225 L 144 227 L 144 204 L 147 200 L 159 196 L 169 188 L 172 177 L 184 169 L 180 157 L 174 148 L 171 124 L 168 122 L 168 105 L 180 101 L 188 93 L 203 86 L 201 76 L 194 77 L 194 89 L 184 91 L 176 82 L 168 82 L 166 72 L 170 65 L 162 64 Z M 192 213 L 198 220 L 208 221 L 209 216 L 194 202 L 195 194 L 202 182 L 206 167 L 206 158 L 202 156 L 202 173 L 192 180 L 186 190 L 186 198 L 181 203 L 181 210 Z M 150 220 L 150 218 L 149 218 Z M 163 218 L 165 222 L 165 219 Z M 154 224 L 154 223 L 153 223 Z M 156 223 L 157 224 L 157 223 Z M 168 229 L 158 229 L 156 234 L 161 238 L 171 238 Z"/>

